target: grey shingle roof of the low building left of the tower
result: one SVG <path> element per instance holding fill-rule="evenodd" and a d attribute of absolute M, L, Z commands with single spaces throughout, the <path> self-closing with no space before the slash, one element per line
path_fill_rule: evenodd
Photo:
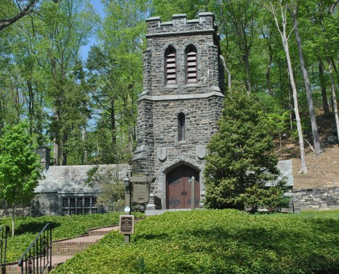
<path fill-rule="evenodd" d="M 45 179 L 40 179 L 34 192 L 58 192 L 58 193 L 88 193 L 99 192 L 97 186 L 85 186 L 86 173 L 95 166 L 117 167 L 119 174 L 125 175 L 129 164 L 99 164 L 83 166 L 49 166 L 44 173 Z"/>

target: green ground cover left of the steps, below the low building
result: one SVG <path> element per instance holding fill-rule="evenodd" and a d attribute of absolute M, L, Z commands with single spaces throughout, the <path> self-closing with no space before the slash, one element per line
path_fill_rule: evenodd
<path fill-rule="evenodd" d="M 18 217 L 15 221 L 15 236 L 8 238 L 6 262 L 17 262 L 27 247 L 36 238 L 47 223 L 52 223 L 52 239 L 60 240 L 87 234 L 88 229 L 105 227 L 119 223 L 119 213 L 71 215 L 71 216 L 42 216 L 38 218 Z M 136 214 L 137 218 L 145 216 Z M 12 219 L 3 218 L 0 226 L 12 227 Z M 11 233 L 10 233 L 11 234 Z"/>

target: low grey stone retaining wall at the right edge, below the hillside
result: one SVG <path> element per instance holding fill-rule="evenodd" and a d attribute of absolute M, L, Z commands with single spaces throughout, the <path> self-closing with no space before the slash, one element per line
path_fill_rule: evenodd
<path fill-rule="evenodd" d="M 339 186 L 293 190 L 294 212 L 307 209 L 339 209 Z"/>

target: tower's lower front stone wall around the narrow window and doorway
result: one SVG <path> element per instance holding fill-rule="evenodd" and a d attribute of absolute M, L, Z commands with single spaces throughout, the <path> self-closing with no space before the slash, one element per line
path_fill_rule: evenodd
<path fill-rule="evenodd" d="M 203 171 L 204 160 L 199 157 L 199 148 L 206 150 L 210 137 L 216 132 L 222 101 L 222 97 L 214 97 L 153 103 L 155 182 L 158 182 L 153 193 L 162 201 L 166 200 L 167 168 L 185 162 Z M 186 137 L 181 141 L 178 140 L 177 132 L 177 116 L 180 112 L 186 116 Z M 164 116 L 166 120 L 162 119 Z M 200 182 L 203 182 L 202 178 Z M 201 195 L 203 193 L 204 187 L 201 185 Z"/>

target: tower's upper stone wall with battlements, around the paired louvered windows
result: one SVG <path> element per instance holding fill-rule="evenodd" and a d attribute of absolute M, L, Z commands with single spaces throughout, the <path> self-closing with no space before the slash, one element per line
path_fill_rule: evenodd
<path fill-rule="evenodd" d="M 186 14 L 173 16 L 173 21 L 161 23 L 160 17 L 147 19 L 147 51 L 143 59 L 142 95 L 175 95 L 208 93 L 219 85 L 219 49 L 215 42 L 214 15 L 205 12 L 197 20 L 186 20 Z M 186 83 L 185 51 L 189 45 L 197 49 L 198 82 Z M 168 47 L 176 51 L 177 84 L 165 82 L 164 53 Z M 220 91 L 220 88 L 217 88 Z"/>

